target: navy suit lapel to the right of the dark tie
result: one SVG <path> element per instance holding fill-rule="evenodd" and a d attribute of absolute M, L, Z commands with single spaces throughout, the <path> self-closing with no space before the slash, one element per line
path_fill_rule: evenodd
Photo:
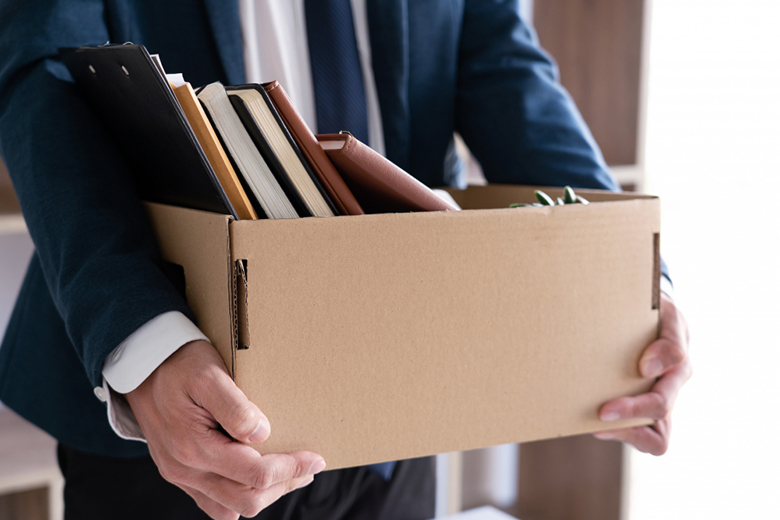
<path fill-rule="evenodd" d="M 371 60 L 382 111 L 388 159 L 408 169 L 409 18 L 408 0 L 366 0 Z"/>

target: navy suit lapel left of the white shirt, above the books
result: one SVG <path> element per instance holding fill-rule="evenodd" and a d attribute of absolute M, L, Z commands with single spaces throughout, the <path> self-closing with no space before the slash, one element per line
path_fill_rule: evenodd
<path fill-rule="evenodd" d="M 217 44 L 227 82 L 240 85 L 246 82 L 244 71 L 244 46 L 241 40 L 241 18 L 238 0 L 203 0 L 208 13 L 211 31 Z"/>

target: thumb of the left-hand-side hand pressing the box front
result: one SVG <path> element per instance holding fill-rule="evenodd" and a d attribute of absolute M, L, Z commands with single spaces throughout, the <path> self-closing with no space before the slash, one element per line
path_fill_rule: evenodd
<path fill-rule="evenodd" d="M 256 444 L 271 434 L 268 418 L 247 399 L 226 372 L 218 371 L 203 390 L 199 404 L 237 441 Z"/>

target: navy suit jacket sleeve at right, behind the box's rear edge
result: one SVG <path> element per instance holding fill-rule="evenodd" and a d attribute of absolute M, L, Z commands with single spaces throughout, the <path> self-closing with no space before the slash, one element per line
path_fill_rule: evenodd
<path fill-rule="evenodd" d="M 490 182 L 619 189 L 518 0 L 465 0 L 455 106 Z"/>

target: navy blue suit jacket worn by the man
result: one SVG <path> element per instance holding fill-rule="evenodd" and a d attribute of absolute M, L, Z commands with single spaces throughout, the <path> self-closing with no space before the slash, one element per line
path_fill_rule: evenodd
<path fill-rule="evenodd" d="M 517 0 L 367 0 L 387 156 L 463 185 L 459 132 L 490 182 L 616 189 Z M 60 441 L 133 456 L 93 395 L 103 360 L 151 318 L 189 313 L 117 146 L 58 47 L 132 41 L 193 85 L 244 82 L 237 2 L 0 0 L 0 154 L 36 253 L 0 349 L 0 400 Z"/>

